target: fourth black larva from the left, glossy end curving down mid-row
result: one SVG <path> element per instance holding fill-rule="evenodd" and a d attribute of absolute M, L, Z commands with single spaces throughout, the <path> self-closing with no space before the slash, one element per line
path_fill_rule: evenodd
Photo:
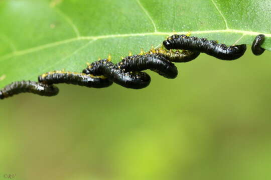
<path fill-rule="evenodd" d="M 175 78 L 178 75 L 178 69 L 174 63 L 158 54 L 126 56 L 116 65 L 125 71 L 151 69 L 167 78 Z"/>

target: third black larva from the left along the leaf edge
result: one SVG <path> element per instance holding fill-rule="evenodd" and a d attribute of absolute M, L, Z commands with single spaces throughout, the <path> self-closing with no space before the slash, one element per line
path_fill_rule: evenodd
<path fill-rule="evenodd" d="M 127 88 L 140 89 L 147 87 L 151 82 L 151 77 L 146 72 L 125 72 L 108 59 L 102 59 L 91 63 L 83 73 L 104 75 L 113 82 Z"/>

